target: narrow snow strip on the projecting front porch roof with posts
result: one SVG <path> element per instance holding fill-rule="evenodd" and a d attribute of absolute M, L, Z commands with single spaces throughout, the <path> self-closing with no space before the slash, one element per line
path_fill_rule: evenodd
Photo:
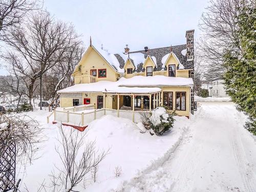
<path fill-rule="evenodd" d="M 118 93 L 118 94 L 149 94 L 162 91 L 160 88 L 138 88 L 138 87 L 116 87 L 110 90 L 104 90 L 103 93 Z"/>

